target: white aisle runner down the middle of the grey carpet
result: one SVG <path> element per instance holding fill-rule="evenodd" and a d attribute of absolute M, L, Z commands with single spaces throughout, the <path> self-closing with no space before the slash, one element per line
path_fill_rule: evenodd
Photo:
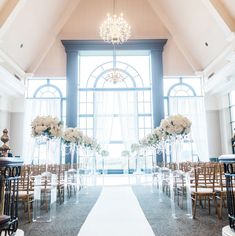
<path fill-rule="evenodd" d="M 131 187 L 104 187 L 78 236 L 154 236 Z"/>

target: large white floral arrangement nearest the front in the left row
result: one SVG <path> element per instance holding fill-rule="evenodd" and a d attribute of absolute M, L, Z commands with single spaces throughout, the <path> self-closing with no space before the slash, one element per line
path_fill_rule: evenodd
<path fill-rule="evenodd" d="M 49 139 L 62 135 L 63 123 L 57 117 L 37 116 L 31 123 L 32 136 L 46 136 Z"/>

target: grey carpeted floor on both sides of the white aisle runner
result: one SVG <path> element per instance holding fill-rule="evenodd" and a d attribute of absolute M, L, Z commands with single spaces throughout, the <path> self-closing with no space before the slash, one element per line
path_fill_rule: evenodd
<path fill-rule="evenodd" d="M 208 209 L 198 207 L 195 220 L 187 218 L 179 209 L 180 217 L 173 219 L 169 197 L 163 195 L 160 202 L 157 190 L 151 185 L 136 185 L 132 189 L 156 236 L 221 236 L 223 226 L 228 225 L 227 212 L 219 220 L 213 207 L 211 215 Z M 89 187 L 81 191 L 79 204 L 58 205 L 57 216 L 51 223 L 29 224 L 27 214 L 21 210 L 19 228 L 25 236 L 77 236 L 101 190 L 102 187 Z"/>

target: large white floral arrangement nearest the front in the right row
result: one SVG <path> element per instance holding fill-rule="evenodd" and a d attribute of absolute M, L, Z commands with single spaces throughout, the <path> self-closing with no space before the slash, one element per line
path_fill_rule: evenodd
<path fill-rule="evenodd" d="M 172 115 L 161 121 L 160 127 L 167 136 L 187 135 L 191 131 L 192 122 L 185 116 Z"/>

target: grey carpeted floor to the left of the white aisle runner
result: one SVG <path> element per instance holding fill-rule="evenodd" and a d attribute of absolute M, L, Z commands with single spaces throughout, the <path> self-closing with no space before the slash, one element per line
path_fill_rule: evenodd
<path fill-rule="evenodd" d="M 81 190 L 78 204 L 57 205 L 56 218 L 51 223 L 28 223 L 27 213 L 19 212 L 19 228 L 25 236 L 77 236 L 87 215 L 97 201 L 101 187 Z"/>

